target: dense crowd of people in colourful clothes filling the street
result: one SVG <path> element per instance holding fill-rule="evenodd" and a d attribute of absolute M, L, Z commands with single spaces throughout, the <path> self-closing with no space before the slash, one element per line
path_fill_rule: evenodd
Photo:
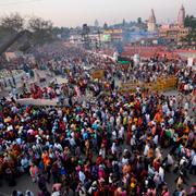
<path fill-rule="evenodd" d="M 69 83 L 54 82 L 46 88 L 34 85 L 20 96 L 68 101 L 36 107 L 21 106 L 16 97 L 1 99 L 0 181 L 15 186 L 17 175 L 27 173 L 39 196 L 196 194 L 196 184 L 187 188 L 189 173 L 196 175 L 196 126 L 191 105 L 195 99 L 140 89 L 123 95 L 114 79 L 133 76 L 148 82 L 157 73 L 179 74 L 189 83 L 192 71 L 185 74 L 180 66 L 154 60 L 152 65 L 133 65 L 124 72 L 109 59 L 79 49 L 53 52 L 52 57 L 41 59 L 37 66 L 46 65 Z M 93 81 L 84 64 L 106 70 L 105 77 Z M 88 94 L 93 96 L 79 99 Z M 174 193 L 166 182 L 171 172 L 176 176 Z M 12 195 L 35 193 L 14 191 Z"/>

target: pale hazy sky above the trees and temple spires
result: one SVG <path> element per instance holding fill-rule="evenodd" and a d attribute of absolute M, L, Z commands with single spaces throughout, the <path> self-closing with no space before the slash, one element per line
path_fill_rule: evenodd
<path fill-rule="evenodd" d="M 108 24 L 147 20 L 155 10 L 159 23 L 176 21 L 179 9 L 184 4 L 186 14 L 196 16 L 196 0 L 0 0 L 0 15 L 19 12 L 51 20 L 58 26 L 77 26 L 83 23 Z"/>

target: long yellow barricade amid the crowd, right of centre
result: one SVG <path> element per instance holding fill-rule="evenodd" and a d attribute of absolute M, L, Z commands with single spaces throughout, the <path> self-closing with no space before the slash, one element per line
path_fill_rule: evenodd
<path fill-rule="evenodd" d="M 175 76 L 159 77 L 157 82 L 151 83 L 123 83 L 120 86 L 119 91 L 124 93 L 135 93 L 136 88 L 139 87 L 142 91 L 167 91 L 176 88 L 177 79 Z"/>

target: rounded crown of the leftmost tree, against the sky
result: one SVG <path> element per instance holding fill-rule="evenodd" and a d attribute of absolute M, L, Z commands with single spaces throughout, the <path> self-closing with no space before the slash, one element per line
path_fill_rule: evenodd
<path fill-rule="evenodd" d="M 24 29 L 25 20 L 19 13 L 12 13 L 0 19 L 1 27 L 10 32 Z"/>

